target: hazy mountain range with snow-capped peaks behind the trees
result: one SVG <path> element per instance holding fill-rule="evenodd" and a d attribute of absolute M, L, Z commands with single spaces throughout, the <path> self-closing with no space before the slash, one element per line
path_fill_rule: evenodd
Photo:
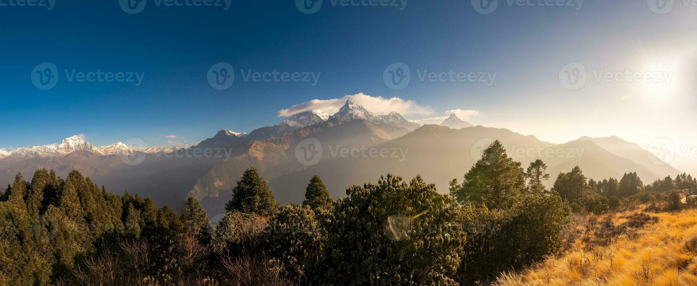
<path fill-rule="evenodd" d="M 448 182 L 461 181 L 493 140 L 500 140 L 523 167 L 537 158 L 544 160 L 551 174 L 545 182 L 548 187 L 556 174 L 576 165 L 593 179 L 637 172 L 648 182 L 679 173 L 670 165 L 652 164 L 657 158 L 618 137 L 552 144 L 503 128 L 472 126 L 455 114 L 439 125 L 420 126 L 397 112 L 377 115 L 347 101 L 332 116 L 300 112 L 249 134 L 221 129 L 187 149 L 141 151 L 121 142 L 95 147 L 79 136 L 61 144 L 17 148 L 0 153 L 0 183 L 11 183 L 17 172 L 31 178 L 38 168 L 54 169 L 61 176 L 79 170 L 112 192 L 149 196 L 176 211 L 183 210 L 187 196 L 196 197 L 214 217 L 224 213 L 224 204 L 247 167 L 259 170 L 281 203 L 302 202 L 313 174 L 321 176 L 332 197 L 345 195 L 351 184 L 377 181 L 388 172 L 405 178 L 421 174 L 445 192 Z M 308 163 L 302 155 L 302 150 L 309 150 L 308 142 L 316 145 L 313 150 L 321 150 L 316 162 Z M 208 155 L 201 155 L 207 150 Z M 135 157 L 142 159 L 140 163 L 133 163 Z"/>

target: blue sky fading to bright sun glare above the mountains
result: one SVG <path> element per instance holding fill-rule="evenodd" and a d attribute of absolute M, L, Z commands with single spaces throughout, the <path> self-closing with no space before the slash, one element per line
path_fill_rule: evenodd
<path fill-rule="evenodd" d="M 279 110 L 309 100 L 356 93 L 412 100 L 402 110 L 408 119 L 476 110 L 462 115 L 557 143 L 582 135 L 697 142 L 696 89 L 685 80 L 694 79 L 697 62 L 697 7 L 691 4 L 676 3 L 659 15 L 646 1 L 583 1 L 580 8 L 577 1 L 563 7 L 500 1 L 485 15 L 470 1 L 398 7 L 324 1 L 307 15 L 294 1 L 232 1 L 228 10 L 157 3 L 148 1 L 135 15 L 118 1 L 58 0 L 51 10 L 1 6 L 0 148 L 52 144 L 74 134 L 97 146 L 132 137 L 158 146 L 190 144 L 220 128 L 249 132 L 276 124 L 284 119 Z M 591 70 L 670 70 L 677 84 L 655 89 L 589 80 L 579 90 L 565 89 L 560 69 L 576 61 L 590 79 Z M 30 80 L 43 62 L 59 71 L 49 90 Z M 219 62 L 235 70 L 229 89 L 213 89 L 206 80 Z M 411 70 L 404 89 L 383 81 L 395 62 Z M 240 69 L 312 72 L 319 80 L 314 86 L 245 82 Z M 144 77 L 138 86 L 69 82 L 65 70 Z M 496 72 L 496 80 L 421 82 L 425 70 Z M 438 123 L 432 121 L 422 123 Z M 693 127 L 684 128 L 689 122 Z"/>

